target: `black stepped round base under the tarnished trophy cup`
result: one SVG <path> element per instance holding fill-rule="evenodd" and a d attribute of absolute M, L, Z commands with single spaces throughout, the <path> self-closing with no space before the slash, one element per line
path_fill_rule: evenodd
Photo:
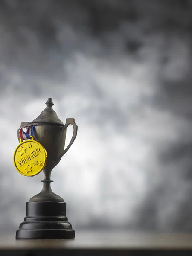
<path fill-rule="evenodd" d="M 26 203 L 26 217 L 16 231 L 16 239 L 74 238 L 75 230 L 66 217 L 66 203 Z"/>

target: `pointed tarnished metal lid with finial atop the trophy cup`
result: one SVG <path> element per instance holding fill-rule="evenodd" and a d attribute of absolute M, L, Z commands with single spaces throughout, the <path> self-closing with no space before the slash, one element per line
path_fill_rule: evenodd
<path fill-rule="evenodd" d="M 52 102 L 52 98 L 49 98 L 45 104 L 47 105 L 47 107 L 44 109 L 44 111 L 42 111 L 41 114 L 29 124 L 38 123 L 42 125 L 64 126 L 64 123 L 61 122 L 60 119 L 58 119 L 56 112 L 52 109 L 52 106 L 54 105 Z"/>

